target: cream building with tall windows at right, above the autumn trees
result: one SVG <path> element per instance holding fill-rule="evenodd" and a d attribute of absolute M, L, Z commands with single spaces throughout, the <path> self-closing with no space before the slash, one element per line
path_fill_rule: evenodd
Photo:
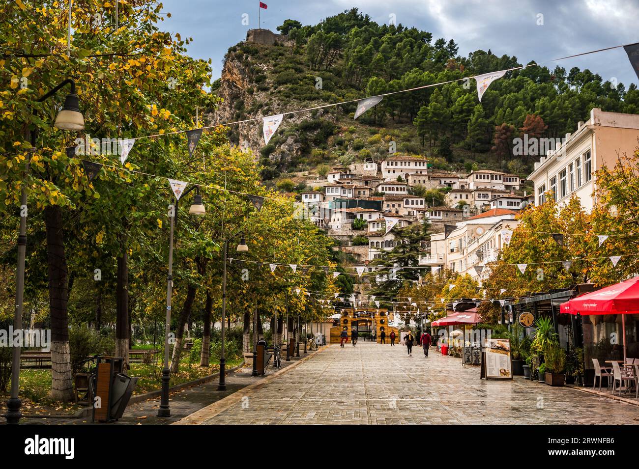
<path fill-rule="evenodd" d="M 553 197 L 561 206 L 576 195 L 591 211 L 597 200 L 596 171 L 604 165 L 612 168 L 617 155 L 632 154 L 638 138 L 639 115 L 593 108 L 587 122 L 535 163 L 528 176 L 535 184 L 535 205 Z"/>

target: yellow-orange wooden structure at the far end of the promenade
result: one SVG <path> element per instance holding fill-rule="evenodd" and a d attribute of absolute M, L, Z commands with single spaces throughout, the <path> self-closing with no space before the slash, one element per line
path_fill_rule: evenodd
<path fill-rule="evenodd" d="M 330 328 L 330 343 L 339 343 L 340 334 L 346 327 L 348 340 L 351 340 L 351 331 L 357 329 L 360 341 L 373 340 L 381 343 L 381 332 L 386 332 L 386 343 L 390 343 L 390 331 L 395 331 L 399 340 L 399 329 L 389 326 L 389 315 L 393 313 L 386 309 L 371 308 L 342 308 L 341 317 L 335 319 L 335 324 Z"/>

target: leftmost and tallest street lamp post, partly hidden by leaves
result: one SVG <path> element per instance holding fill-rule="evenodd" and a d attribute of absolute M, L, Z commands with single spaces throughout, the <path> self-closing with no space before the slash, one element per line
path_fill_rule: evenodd
<path fill-rule="evenodd" d="M 75 94 L 75 82 L 65 80 L 54 87 L 49 93 L 39 98 L 36 102 L 42 103 L 47 100 L 65 85 L 71 85 L 71 93 L 66 96 L 65 105 L 56 117 L 54 126 L 60 130 L 84 130 L 84 116 L 80 112 L 79 101 Z M 37 131 L 29 131 L 27 128 L 26 138 L 31 142 L 31 151 L 35 149 Z M 15 312 L 13 314 L 13 330 L 22 330 L 22 302 L 24 301 L 24 264 L 27 253 L 27 174 L 29 174 L 29 161 L 25 161 L 24 181 L 20 189 L 20 228 L 18 234 L 18 266 L 15 278 Z M 6 401 L 7 413 L 6 422 L 8 424 L 19 424 L 22 418 L 20 406 L 22 401 L 19 398 L 20 392 L 20 346 L 13 347 L 12 368 L 11 368 L 11 397 Z"/>

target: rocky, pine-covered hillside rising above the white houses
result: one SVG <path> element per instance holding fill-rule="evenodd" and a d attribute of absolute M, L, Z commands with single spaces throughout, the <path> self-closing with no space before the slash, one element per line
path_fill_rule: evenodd
<path fill-rule="evenodd" d="M 516 57 L 477 50 L 459 56 L 453 40 L 415 28 L 378 25 L 358 10 L 315 26 L 286 20 L 275 45 L 244 41 L 229 48 L 215 93 L 224 101 L 212 122 L 241 121 L 373 96 L 519 66 Z M 560 63 L 559 63 L 560 64 Z M 321 87 L 316 86 L 321 78 Z M 639 91 L 589 70 L 527 67 L 495 81 L 479 103 L 474 80 L 387 96 L 357 121 L 355 104 L 286 115 L 268 145 L 261 124 L 229 127 L 250 148 L 265 181 L 295 172 L 323 172 L 389 154 L 420 154 L 442 169 L 510 170 L 527 174 L 534 157 L 512 154 L 512 139 L 528 133 L 563 137 L 590 108 L 639 113 Z"/>

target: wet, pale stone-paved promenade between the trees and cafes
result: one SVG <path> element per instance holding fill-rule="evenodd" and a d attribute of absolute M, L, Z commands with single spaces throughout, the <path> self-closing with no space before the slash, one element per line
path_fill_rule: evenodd
<path fill-rule="evenodd" d="M 413 348 L 331 345 L 204 424 L 637 424 L 639 407 Z"/>

